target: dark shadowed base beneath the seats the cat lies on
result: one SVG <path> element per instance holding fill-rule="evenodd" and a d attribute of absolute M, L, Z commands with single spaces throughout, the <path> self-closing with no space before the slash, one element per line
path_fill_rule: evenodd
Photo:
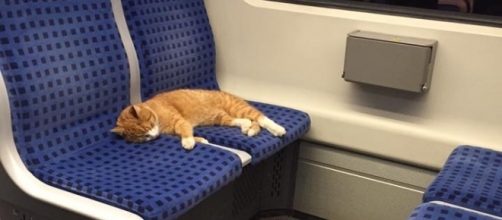
<path fill-rule="evenodd" d="M 249 220 L 269 209 L 292 209 L 299 141 L 257 165 L 244 167 L 223 187 L 179 220 Z"/>

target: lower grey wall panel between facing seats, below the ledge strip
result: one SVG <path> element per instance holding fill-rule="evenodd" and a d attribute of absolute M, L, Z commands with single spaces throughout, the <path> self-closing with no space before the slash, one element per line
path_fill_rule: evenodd
<path fill-rule="evenodd" d="M 329 220 L 403 220 L 422 193 L 300 161 L 294 208 Z"/>

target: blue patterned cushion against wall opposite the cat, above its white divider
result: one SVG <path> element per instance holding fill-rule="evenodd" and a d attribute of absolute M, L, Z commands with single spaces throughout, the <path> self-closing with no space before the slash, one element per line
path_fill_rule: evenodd
<path fill-rule="evenodd" d="M 456 148 L 424 194 L 424 201 L 444 201 L 502 216 L 502 153 L 473 146 Z"/>

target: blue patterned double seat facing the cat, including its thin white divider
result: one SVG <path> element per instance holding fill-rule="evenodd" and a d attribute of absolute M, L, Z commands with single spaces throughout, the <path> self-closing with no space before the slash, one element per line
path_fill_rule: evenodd
<path fill-rule="evenodd" d="M 502 219 L 502 153 L 459 146 L 409 219 Z"/>

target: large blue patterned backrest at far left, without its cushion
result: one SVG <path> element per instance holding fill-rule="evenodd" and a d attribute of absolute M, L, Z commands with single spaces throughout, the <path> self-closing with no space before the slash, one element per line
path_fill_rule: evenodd
<path fill-rule="evenodd" d="M 129 67 L 109 0 L 3 1 L 0 71 L 29 169 L 110 135 L 129 103 Z"/>

